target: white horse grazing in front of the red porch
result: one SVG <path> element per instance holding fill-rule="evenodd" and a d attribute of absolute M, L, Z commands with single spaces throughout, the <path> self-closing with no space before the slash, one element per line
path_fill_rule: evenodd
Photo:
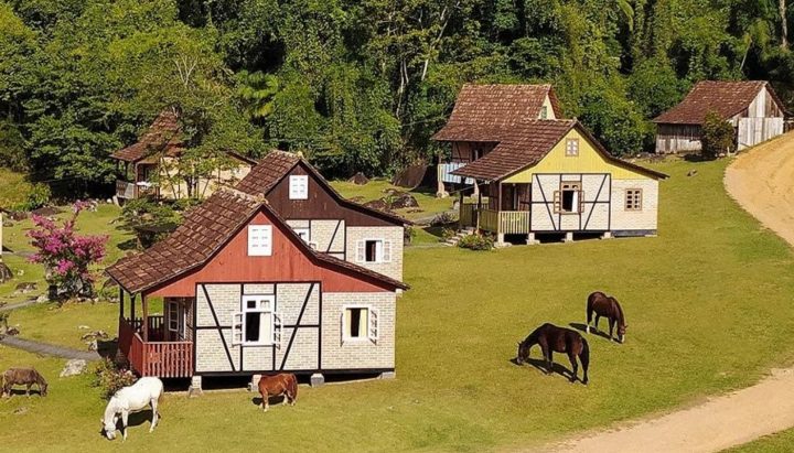
<path fill-rule="evenodd" d="M 105 435 L 109 440 L 116 439 L 116 422 L 118 422 L 118 414 L 120 413 L 121 434 L 127 440 L 127 417 L 130 412 L 138 412 L 147 406 L 152 408 L 152 423 L 149 432 L 154 431 L 160 418 L 157 407 L 162 393 L 162 381 L 155 377 L 142 377 L 136 384 L 117 391 L 110 398 L 107 408 L 105 408 L 105 418 L 101 421 Z"/>

